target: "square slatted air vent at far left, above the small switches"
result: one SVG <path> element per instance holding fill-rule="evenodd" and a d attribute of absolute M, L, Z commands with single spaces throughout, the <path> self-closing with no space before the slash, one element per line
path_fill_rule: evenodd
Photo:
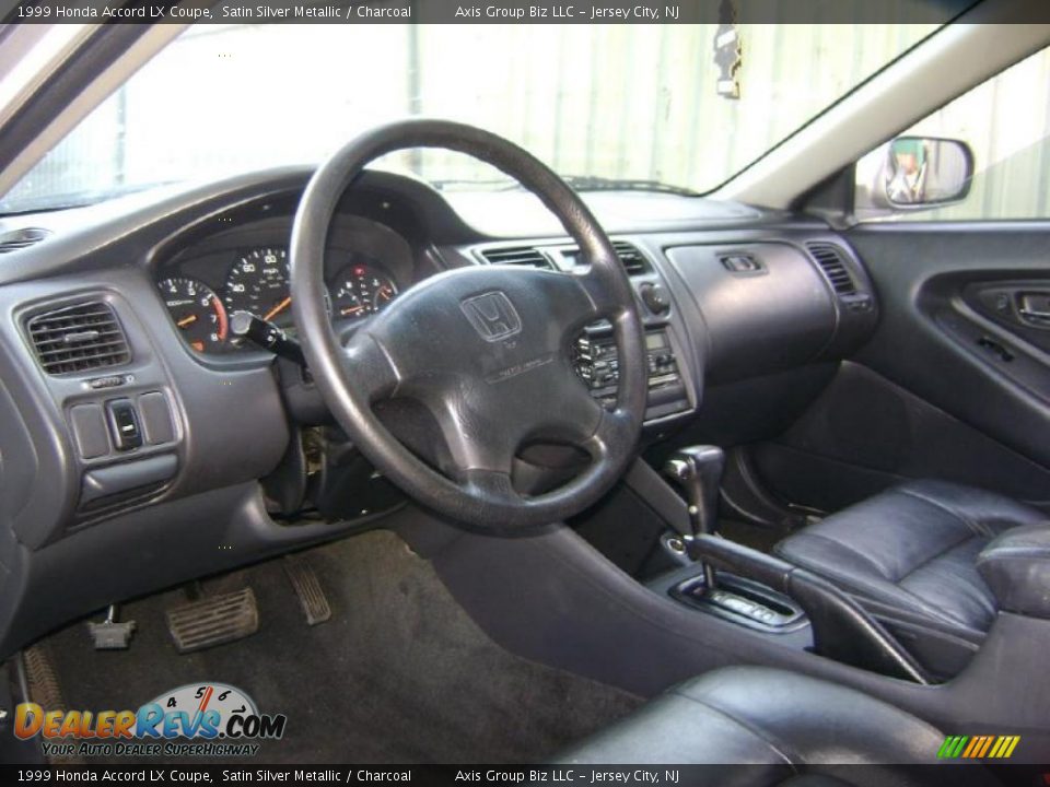
<path fill-rule="evenodd" d="M 104 301 L 38 314 L 25 328 L 40 366 L 51 375 L 119 366 L 131 360 L 120 322 Z"/>

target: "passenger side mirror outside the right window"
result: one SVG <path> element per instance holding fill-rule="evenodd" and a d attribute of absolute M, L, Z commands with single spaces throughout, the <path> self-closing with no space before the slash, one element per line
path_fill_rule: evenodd
<path fill-rule="evenodd" d="M 935 208 L 966 199 L 973 178 L 973 151 L 966 142 L 898 137 L 886 146 L 873 203 L 892 211 Z"/>

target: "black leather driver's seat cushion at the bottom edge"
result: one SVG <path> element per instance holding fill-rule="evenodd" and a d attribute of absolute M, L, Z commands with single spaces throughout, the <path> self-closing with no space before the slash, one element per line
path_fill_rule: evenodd
<path fill-rule="evenodd" d="M 886 768 L 831 766 L 933 765 L 944 740 L 925 721 L 852 689 L 783 670 L 730 667 L 668 690 L 564 752 L 558 764 L 750 766 L 707 774 L 710 784 L 922 784 Z M 933 771 L 940 773 L 922 774 L 946 784 L 944 772 Z M 965 771 L 984 782 L 979 770 Z"/>

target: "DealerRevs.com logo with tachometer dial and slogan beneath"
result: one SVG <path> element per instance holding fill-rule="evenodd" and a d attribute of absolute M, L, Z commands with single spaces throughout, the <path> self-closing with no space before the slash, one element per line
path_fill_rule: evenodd
<path fill-rule="evenodd" d="M 288 717 L 260 714 L 255 702 L 225 683 L 191 683 L 161 694 L 138 710 L 15 708 L 14 735 L 40 736 L 47 756 L 245 756 L 258 740 L 278 740 Z"/>

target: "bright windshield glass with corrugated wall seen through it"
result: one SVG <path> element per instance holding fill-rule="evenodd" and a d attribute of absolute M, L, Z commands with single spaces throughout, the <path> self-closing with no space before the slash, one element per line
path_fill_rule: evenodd
<path fill-rule="evenodd" d="M 407 115 L 481 126 L 584 190 L 707 192 L 935 25 L 199 25 L 0 200 L 55 209 L 176 180 L 316 163 Z M 441 152 L 389 164 L 501 188 Z"/>

